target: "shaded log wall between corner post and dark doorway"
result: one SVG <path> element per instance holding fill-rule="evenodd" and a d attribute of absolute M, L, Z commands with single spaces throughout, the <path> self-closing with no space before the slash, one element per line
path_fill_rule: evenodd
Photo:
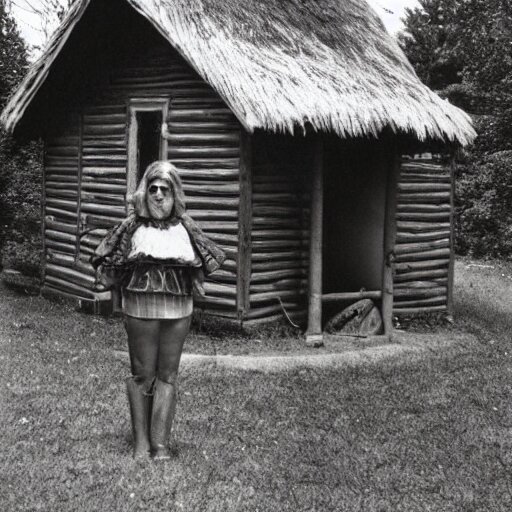
<path fill-rule="evenodd" d="M 255 141 L 256 155 L 261 144 Z M 279 159 L 293 158 L 293 148 L 282 151 Z M 286 168 L 272 159 L 267 166 L 254 164 L 250 309 L 245 324 L 282 319 L 284 311 L 293 321 L 306 319 L 309 179 L 303 169 Z"/>

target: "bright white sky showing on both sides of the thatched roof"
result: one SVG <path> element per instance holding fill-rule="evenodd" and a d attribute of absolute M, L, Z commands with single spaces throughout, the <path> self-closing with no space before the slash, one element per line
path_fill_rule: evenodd
<path fill-rule="evenodd" d="M 11 0 L 12 13 L 18 23 L 22 36 L 31 46 L 40 47 L 44 42 L 44 36 L 41 31 L 39 19 L 34 14 L 28 12 L 28 3 L 37 6 L 41 0 Z M 344 0 L 339 0 L 343 2 Z M 367 0 L 368 3 L 382 18 L 389 33 L 395 34 L 401 29 L 400 18 L 404 14 L 406 7 L 417 7 L 418 0 Z M 33 52 L 33 57 L 37 57 L 38 51 Z"/>

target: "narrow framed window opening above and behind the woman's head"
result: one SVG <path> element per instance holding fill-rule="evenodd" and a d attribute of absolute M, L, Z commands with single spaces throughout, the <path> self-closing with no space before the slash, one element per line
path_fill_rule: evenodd
<path fill-rule="evenodd" d="M 155 160 L 167 160 L 167 140 L 161 135 L 167 120 L 168 98 L 132 100 L 128 112 L 127 197 L 139 184 L 147 166 Z"/>

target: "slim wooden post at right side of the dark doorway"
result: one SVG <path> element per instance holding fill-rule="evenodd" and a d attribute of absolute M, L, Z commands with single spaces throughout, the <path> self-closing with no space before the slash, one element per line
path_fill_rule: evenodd
<path fill-rule="evenodd" d="M 396 203 L 400 176 L 400 155 L 395 153 L 388 168 L 386 185 L 386 212 L 384 217 L 384 261 L 382 262 L 382 321 L 384 334 L 393 333 L 393 270 L 396 242 Z"/>

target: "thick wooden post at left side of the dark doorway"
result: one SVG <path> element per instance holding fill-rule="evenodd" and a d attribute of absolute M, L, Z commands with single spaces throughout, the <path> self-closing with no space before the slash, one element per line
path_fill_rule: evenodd
<path fill-rule="evenodd" d="M 311 224 L 309 244 L 309 304 L 306 345 L 323 345 L 322 334 L 322 235 L 323 235 L 323 174 L 324 145 L 322 136 L 316 136 L 315 157 L 311 183 Z"/>

